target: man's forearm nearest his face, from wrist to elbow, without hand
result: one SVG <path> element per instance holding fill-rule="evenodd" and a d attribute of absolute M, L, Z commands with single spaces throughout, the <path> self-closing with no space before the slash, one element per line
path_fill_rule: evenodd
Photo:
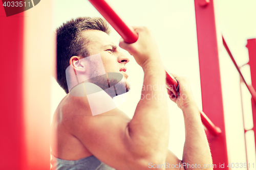
<path fill-rule="evenodd" d="M 130 135 L 134 143 L 141 143 L 138 150 L 141 154 L 167 154 L 169 119 L 164 67 L 161 61 L 152 61 L 142 68 L 141 100 L 129 125 Z"/>

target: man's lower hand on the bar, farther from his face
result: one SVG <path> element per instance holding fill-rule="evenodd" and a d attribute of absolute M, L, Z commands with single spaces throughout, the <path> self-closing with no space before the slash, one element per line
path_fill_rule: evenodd
<path fill-rule="evenodd" d="M 191 105 L 197 105 L 191 91 L 191 84 L 189 83 L 188 79 L 173 73 L 172 75 L 179 83 L 179 96 L 177 98 L 172 92 L 167 90 L 170 100 L 174 101 L 181 110 Z"/>

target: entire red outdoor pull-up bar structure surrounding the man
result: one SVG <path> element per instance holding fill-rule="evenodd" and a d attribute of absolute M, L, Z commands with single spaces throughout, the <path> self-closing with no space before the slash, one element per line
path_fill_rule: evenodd
<path fill-rule="evenodd" d="M 105 1 L 90 0 L 93 4 L 100 2 L 105 10 Z M 197 25 L 198 54 L 202 91 L 201 119 L 206 127 L 210 143 L 213 163 L 216 169 L 227 170 L 227 166 L 219 168 L 219 163 L 230 162 L 228 157 L 224 109 L 222 100 L 219 47 L 224 45 L 231 60 L 238 69 L 242 83 L 249 89 L 252 99 L 252 118 L 254 126 L 247 131 L 256 131 L 256 39 L 248 39 L 251 85 L 243 78 L 240 68 L 227 43 L 216 29 L 214 0 L 195 0 Z M 102 6 L 103 5 L 103 6 Z M 37 5 L 36 10 L 4 17 L 4 7 L 0 9 L 0 52 L 3 57 L 0 63 L 1 78 L 1 124 L 0 124 L 0 163 L 3 169 L 49 169 L 50 168 L 50 98 L 51 81 L 55 67 L 55 36 L 52 34 L 51 23 L 52 2 L 44 1 Z M 107 8 L 112 10 L 112 8 Z M 103 12 L 102 11 L 102 12 Z M 109 13 L 107 13 L 109 14 Z M 126 42 L 135 42 L 138 35 L 128 27 L 118 15 L 109 16 L 110 24 Z M 102 14 L 104 16 L 104 14 Z M 26 16 L 26 17 L 25 17 Z M 27 17 L 31 16 L 31 17 Z M 33 16 L 33 17 L 32 17 Z M 112 20 L 112 21 L 111 21 Z M 117 22 L 117 26 L 114 24 Z M 120 24 L 121 26 L 120 27 Z M 43 26 L 43 27 L 42 27 Z M 35 31 L 36 30 L 36 31 Z M 40 34 L 38 34 L 38 32 Z M 38 41 L 40 40 L 40 41 Z M 221 43 L 220 43 L 221 42 Z M 44 46 L 44 50 L 42 50 Z M 40 53 L 38 53 L 40 52 Z M 36 56 L 36 57 L 35 57 Z M 12 60 L 10 69 L 6 63 Z M 169 77 L 168 77 L 169 76 Z M 177 95 L 178 84 L 166 70 L 167 87 Z M 169 81 L 169 82 L 168 82 Z M 171 89 L 171 87 L 173 87 Z M 175 87 L 175 88 L 174 88 Z M 44 89 L 44 90 L 38 90 Z M 177 90 L 176 90 L 177 89 Z M 38 97 L 39 96 L 39 97 Z M 221 132 L 221 133 L 220 133 Z M 254 140 L 256 135 L 254 135 Z M 248 162 L 247 162 L 248 163 Z"/>

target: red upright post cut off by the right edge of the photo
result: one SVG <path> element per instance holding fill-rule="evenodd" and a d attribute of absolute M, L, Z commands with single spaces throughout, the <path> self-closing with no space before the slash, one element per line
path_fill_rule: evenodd
<path fill-rule="evenodd" d="M 248 39 L 247 45 L 248 53 L 249 53 L 249 65 L 251 71 L 251 85 L 254 89 L 256 89 L 256 39 Z M 251 99 L 251 107 L 252 107 L 252 119 L 253 119 L 253 132 L 254 132 L 254 141 L 256 148 L 256 102 Z"/>

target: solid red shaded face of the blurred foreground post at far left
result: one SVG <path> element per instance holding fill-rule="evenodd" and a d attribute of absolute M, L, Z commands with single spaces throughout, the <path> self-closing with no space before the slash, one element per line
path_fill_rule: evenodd
<path fill-rule="evenodd" d="M 23 13 L 6 17 L 0 7 L 0 165 L 22 169 L 26 158 L 23 112 Z"/>

